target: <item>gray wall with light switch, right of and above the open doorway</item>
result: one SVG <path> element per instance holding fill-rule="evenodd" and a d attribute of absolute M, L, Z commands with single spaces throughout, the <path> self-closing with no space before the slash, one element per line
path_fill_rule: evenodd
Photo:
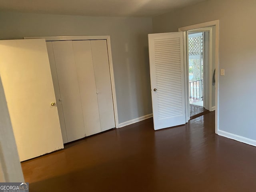
<path fill-rule="evenodd" d="M 208 0 L 153 18 L 153 31 L 220 20 L 219 129 L 256 140 L 256 1 Z"/>

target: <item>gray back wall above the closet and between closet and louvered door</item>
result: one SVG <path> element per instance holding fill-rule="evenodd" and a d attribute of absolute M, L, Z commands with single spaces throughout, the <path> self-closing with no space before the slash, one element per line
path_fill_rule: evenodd
<path fill-rule="evenodd" d="M 148 37 L 152 18 L 0 12 L 0 39 L 110 35 L 119 123 L 152 113 Z"/>

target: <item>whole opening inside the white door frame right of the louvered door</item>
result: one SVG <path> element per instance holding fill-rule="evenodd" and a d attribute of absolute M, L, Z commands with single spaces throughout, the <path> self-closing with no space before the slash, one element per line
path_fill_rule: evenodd
<path fill-rule="evenodd" d="M 215 26 L 186 31 L 190 119 L 215 110 Z"/>

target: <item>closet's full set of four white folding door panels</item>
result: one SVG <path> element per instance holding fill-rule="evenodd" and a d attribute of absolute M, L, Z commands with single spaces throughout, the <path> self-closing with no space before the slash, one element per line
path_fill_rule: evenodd
<path fill-rule="evenodd" d="M 115 127 L 106 40 L 46 42 L 63 142 Z"/>

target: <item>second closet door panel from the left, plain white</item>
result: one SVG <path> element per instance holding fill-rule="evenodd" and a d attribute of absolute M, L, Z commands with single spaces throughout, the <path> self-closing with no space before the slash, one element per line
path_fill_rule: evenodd
<path fill-rule="evenodd" d="M 52 42 L 68 142 L 85 136 L 72 41 Z"/>

